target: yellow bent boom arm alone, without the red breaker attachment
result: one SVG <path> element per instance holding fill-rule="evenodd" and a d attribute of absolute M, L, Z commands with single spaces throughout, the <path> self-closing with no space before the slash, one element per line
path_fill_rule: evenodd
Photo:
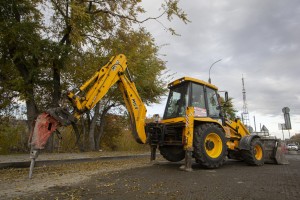
<path fill-rule="evenodd" d="M 84 97 L 77 96 L 72 92 L 68 93 L 68 97 L 75 108 L 74 116 L 79 118 L 82 113 L 91 110 L 117 83 L 130 114 L 132 134 L 138 143 L 144 144 L 146 143 L 146 106 L 140 98 L 134 82 L 129 79 L 130 75 L 129 78 L 125 75 L 126 71 L 128 72 L 125 55 L 114 56 L 79 88 L 78 93 L 88 89 Z"/>

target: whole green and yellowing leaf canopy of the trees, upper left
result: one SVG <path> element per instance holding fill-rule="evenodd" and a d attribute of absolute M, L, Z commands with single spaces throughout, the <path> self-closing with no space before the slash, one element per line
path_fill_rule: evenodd
<path fill-rule="evenodd" d="M 157 19 L 157 17 L 150 17 L 142 21 L 138 20 L 138 15 L 145 12 L 140 2 L 132 0 L 51 0 L 47 3 L 43 0 L 1 1 L 0 95 L 3 97 L 1 105 L 7 106 L 13 97 L 32 100 L 29 96 L 35 91 L 35 94 L 39 95 L 34 96 L 34 103 L 42 110 L 46 109 L 49 105 L 47 102 L 51 101 L 52 96 L 45 94 L 52 94 L 56 89 L 52 88 L 52 82 L 59 81 L 51 79 L 54 64 L 55 68 L 64 69 L 61 74 L 64 83 L 59 89 L 66 90 L 69 85 L 74 86 L 78 82 L 83 82 L 68 76 L 68 70 L 78 66 L 78 62 L 81 62 L 79 66 L 83 66 L 86 63 L 82 61 L 91 63 L 92 59 L 103 60 L 112 53 L 120 52 L 130 57 L 129 62 L 133 74 L 137 77 L 142 96 L 146 97 L 145 91 L 150 91 L 151 94 L 162 94 L 163 90 L 160 86 L 163 83 L 157 77 L 164 68 L 164 63 L 157 58 L 158 49 L 154 45 L 154 39 L 145 30 L 134 31 L 132 28 L 133 24 Z M 166 14 L 169 20 L 172 20 L 172 16 L 177 16 L 183 22 L 188 22 L 186 14 L 178 7 L 178 0 L 165 1 L 162 4 L 162 11 L 161 16 Z M 48 19 L 49 13 L 52 17 Z M 145 41 L 144 46 L 142 46 L 143 41 Z M 119 49 L 118 45 L 121 43 L 124 44 Z M 138 57 L 141 52 L 143 56 Z M 97 55 L 91 56 L 93 53 Z M 129 56 L 131 53 L 135 55 Z M 145 62 L 141 63 L 143 59 Z M 134 65 L 144 66 L 135 70 Z M 148 71 L 140 74 L 144 72 L 145 67 Z M 92 66 L 88 73 L 82 74 L 92 74 L 94 69 L 95 67 Z M 143 80 L 145 74 L 151 76 Z M 149 86 L 151 80 L 154 80 L 155 87 Z M 70 81 L 72 83 L 69 83 Z M 155 95 L 149 96 L 153 98 L 146 100 L 147 103 L 157 102 Z"/>

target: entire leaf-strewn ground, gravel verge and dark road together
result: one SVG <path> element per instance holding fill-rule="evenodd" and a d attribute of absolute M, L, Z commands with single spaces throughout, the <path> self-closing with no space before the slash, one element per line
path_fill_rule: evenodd
<path fill-rule="evenodd" d="M 228 160 L 215 170 L 159 158 L 97 161 L 0 170 L 1 199 L 299 199 L 300 155 L 287 155 L 289 165 L 248 166 Z"/>

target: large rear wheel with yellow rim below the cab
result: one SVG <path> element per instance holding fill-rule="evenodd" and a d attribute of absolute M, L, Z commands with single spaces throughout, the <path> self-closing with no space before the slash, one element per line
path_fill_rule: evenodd
<path fill-rule="evenodd" d="M 211 141 L 211 136 L 217 140 Z M 227 145 L 225 133 L 219 126 L 213 123 L 196 126 L 193 145 L 194 157 L 200 165 L 213 169 L 224 164 L 227 156 Z"/>

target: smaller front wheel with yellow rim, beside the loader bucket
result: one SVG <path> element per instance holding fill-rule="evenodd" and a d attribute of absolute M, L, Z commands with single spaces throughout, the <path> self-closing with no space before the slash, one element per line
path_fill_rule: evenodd
<path fill-rule="evenodd" d="M 249 150 L 242 150 L 244 161 L 249 165 L 261 166 L 264 164 L 264 148 L 259 138 L 254 138 Z"/>

